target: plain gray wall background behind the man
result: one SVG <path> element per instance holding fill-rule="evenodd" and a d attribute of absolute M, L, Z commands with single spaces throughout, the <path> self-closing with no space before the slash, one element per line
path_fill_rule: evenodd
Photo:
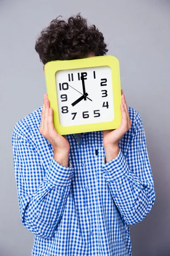
<path fill-rule="evenodd" d="M 120 62 L 127 105 L 142 116 L 156 202 L 130 227 L 133 256 L 170 256 L 170 1 L 0 0 L 0 256 L 29 256 L 33 234 L 20 222 L 11 135 L 42 105 L 42 63 L 34 50 L 49 22 L 81 12 Z"/>

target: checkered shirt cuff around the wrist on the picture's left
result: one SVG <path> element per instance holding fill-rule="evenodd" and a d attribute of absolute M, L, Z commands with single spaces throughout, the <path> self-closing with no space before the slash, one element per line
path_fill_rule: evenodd
<path fill-rule="evenodd" d="M 47 179 L 54 183 L 56 186 L 70 186 L 71 180 L 74 175 L 74 168 L 69 161 L 69 167 L 59 164 L 54 156 L 51 159 L 51 163 L 46 173 Z"/>

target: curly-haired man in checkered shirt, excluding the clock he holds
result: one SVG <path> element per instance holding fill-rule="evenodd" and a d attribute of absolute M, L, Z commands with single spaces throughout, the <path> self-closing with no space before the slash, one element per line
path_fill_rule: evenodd
<path fill-rule="evenodd" d="M 108 52 L 102 33 L 79 14 L 52 20 L 35 49 L 44 65 Z M 115 130 L 58 134 L 47 94 L 14 126 L 20 217 L 34 233 L 32 256 L 131 256 L 129 225 L 150 212 L 155 191 L 142 118 L 121 94 Z"/>

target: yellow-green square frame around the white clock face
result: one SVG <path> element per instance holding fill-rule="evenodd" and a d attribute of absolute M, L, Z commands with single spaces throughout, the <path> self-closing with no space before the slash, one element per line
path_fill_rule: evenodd
<path fill-rule="evenodd" d="M 83 125 L 71 125 L 62 126 L 59 123 L 59 112 L 57 103 L 57 89 L 55 74 L 59 70 L 71 70 L 87 67 L 101 67 L 109 66 L 112 74 L 112 87 L 113 87 L 113 104 L 114 104 L 114 119 L 110 122 L 99 122 Z M 83 133 L 90 131 L 102 131 L 116 129 L 121 124 L 122 113 L 120 105 L 122 103 L 121 98 L 121 86 L 120 86 L 120 71 L 119 60 L 112 55 L 94 56 L 88 58 L 74 59 L 74 60 L 57 60 L 49 61 L 44 66 L 45 71 L 45 83 L 50 101 L 50 107 L 53 108 L 53 123 L 57 132 L 60 135 Z"/>

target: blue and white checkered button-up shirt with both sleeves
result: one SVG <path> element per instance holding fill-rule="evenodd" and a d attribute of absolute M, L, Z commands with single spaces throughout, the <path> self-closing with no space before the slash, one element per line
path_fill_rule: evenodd
<path fill-rule="evenodd" d="M 34 233 L 31 256 L 131 256 L 129 225 L 155 201 L 153 176 L 138 111 L 119 154 L 105 163 L 102 131 L 68 134 L 69 167 L 59 164 L 40 132 L 42 106 L 13 128 L 20 218 Z"/>

